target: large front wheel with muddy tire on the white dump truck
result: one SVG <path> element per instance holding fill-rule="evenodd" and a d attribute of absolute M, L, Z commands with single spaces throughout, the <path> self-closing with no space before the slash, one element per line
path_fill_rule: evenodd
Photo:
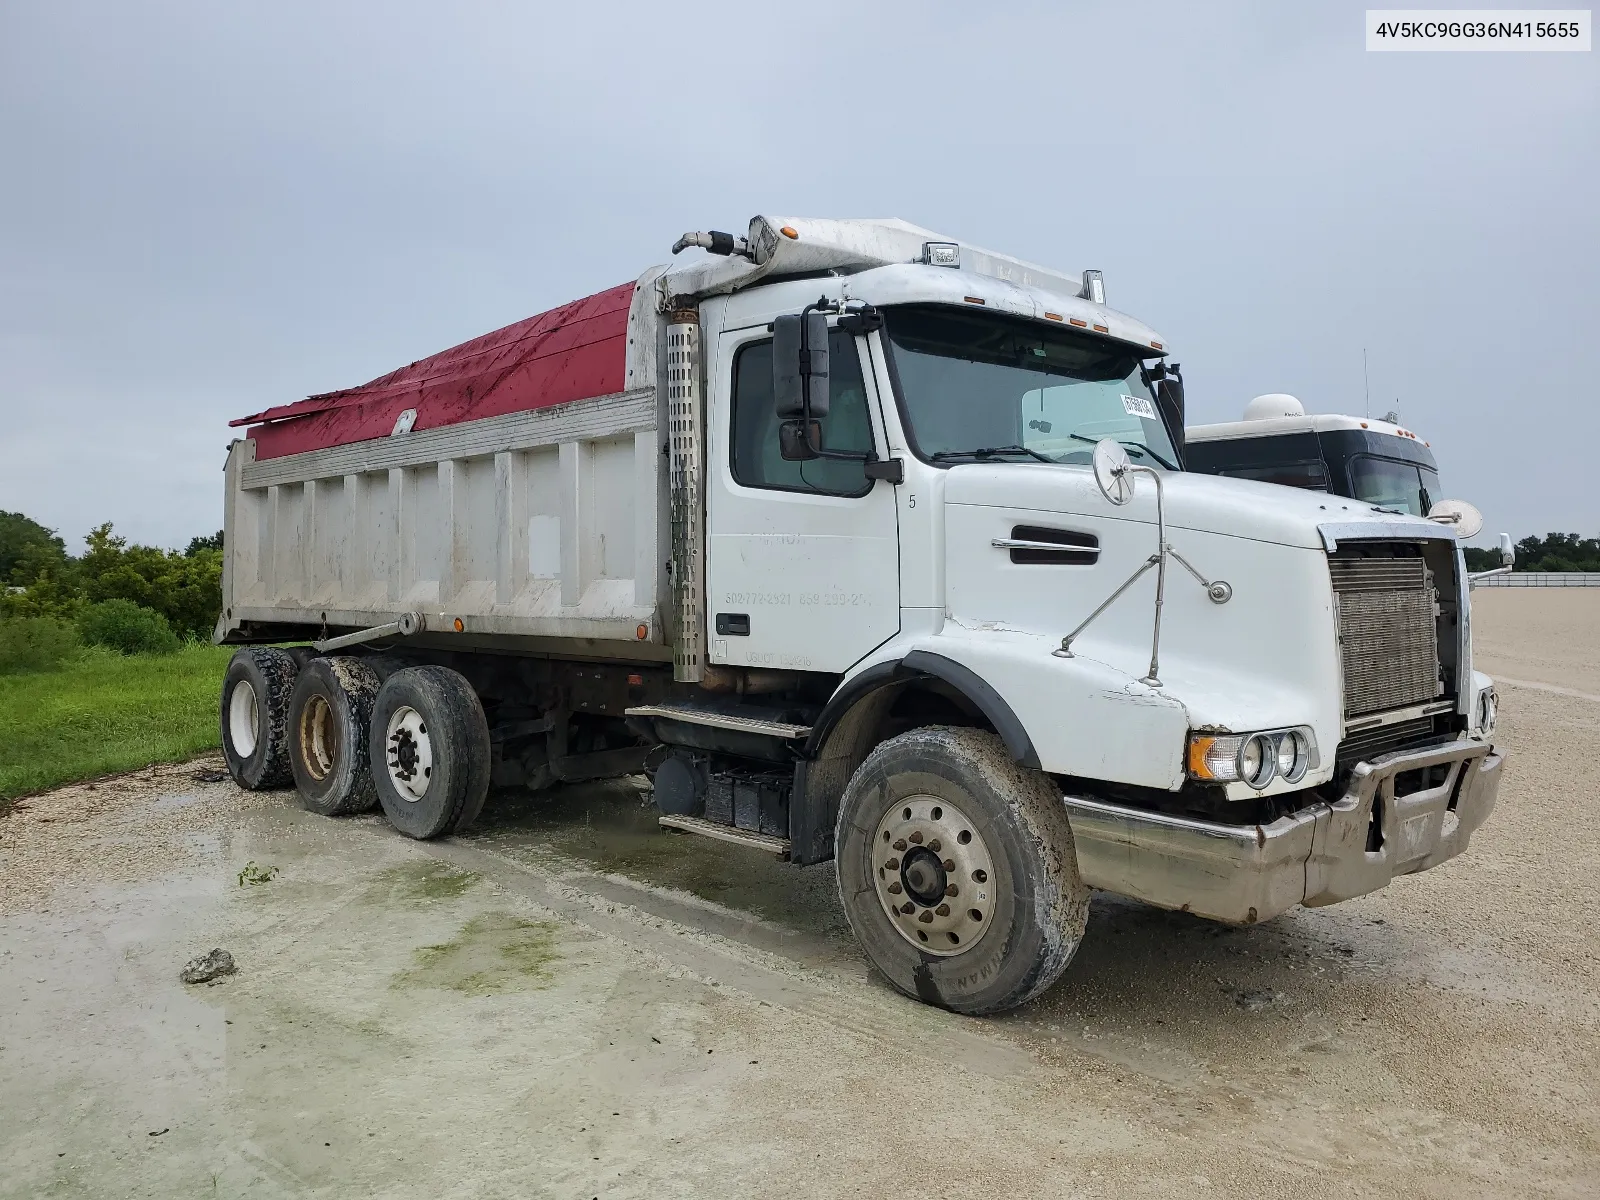
<path fill-rule="evenodd" d="M 1083 939 L 1088 888 L 1061 794 L 984 730 L 928 726 L 878 746 L 845 787 L 834 856 L 867 958 L 925 1003 L 1016 1008 Z"/>

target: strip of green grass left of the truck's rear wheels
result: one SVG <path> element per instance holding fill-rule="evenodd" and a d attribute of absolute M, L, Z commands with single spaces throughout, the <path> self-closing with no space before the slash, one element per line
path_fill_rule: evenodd
<path fill-rule="evenodd" d="M 0 813 L 46 787 L 214 750 L 230 656 L 208 645 L 88 650 L 61 670 L 0 675 Z"/>

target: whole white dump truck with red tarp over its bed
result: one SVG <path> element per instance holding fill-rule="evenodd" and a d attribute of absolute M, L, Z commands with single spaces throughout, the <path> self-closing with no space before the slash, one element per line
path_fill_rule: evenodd
<path fill-rule="evenodd" d="M 1501 755 L 1450 526 L 1182 470 L 1098 272 L 901 221 L 685 250 L 235 422 L 240 784 L 426 838 L 646 770 L 672 830 L 834 859 L 962 1013 L 1048 987 L 1091 888 L 1248 925 L 1466 848 Z"/>

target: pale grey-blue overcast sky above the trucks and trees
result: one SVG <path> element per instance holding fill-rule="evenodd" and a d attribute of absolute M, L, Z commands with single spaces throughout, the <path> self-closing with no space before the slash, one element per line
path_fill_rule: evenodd
<path fill-rule="evenodd" d="M 1600 62 L 1362 11 L 0 0 L 0 509 L 182 546 L 229 418 L 766 211 L 1101 267 L 1190 421 L 1366 347 L 1488 533 L 1594 536 Z"/>

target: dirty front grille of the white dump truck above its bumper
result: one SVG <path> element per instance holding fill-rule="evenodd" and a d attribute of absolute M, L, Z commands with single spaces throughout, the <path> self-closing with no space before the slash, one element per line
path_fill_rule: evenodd
<path fill-rule="evenodd" d="M 1395 546 L 1390 554 L 1368 550 L 1328 560 L 1339 613 L 1346 717 L 1426 704 L 1443 693 L 1432 573 L 1421 557 L 1403 557 L 1402 550 L 1414 554 L 1414 547 Z"/>

